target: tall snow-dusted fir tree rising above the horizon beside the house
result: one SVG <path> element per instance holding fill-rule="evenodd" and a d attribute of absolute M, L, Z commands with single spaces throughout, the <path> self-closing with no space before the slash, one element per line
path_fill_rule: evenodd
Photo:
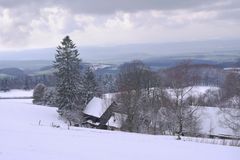
<path fill-rule="evenodd" d="M 59 111 L 77 109 L 81 91 L 80 59 L 75 44 L 66 36 L 57 47 L 54 68 L 56 69 L 56 103 Z"/>

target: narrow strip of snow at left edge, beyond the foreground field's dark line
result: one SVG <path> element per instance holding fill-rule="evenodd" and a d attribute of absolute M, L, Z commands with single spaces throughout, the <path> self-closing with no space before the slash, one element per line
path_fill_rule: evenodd
<path fill-rule="evenodd" d="M 20 98 L 20 97 L 32 97 L 33 90 L 20 90 L 20 89 L 13 89 L 8 92 L 1 92 L 0 91 L 0 98 Z"/>

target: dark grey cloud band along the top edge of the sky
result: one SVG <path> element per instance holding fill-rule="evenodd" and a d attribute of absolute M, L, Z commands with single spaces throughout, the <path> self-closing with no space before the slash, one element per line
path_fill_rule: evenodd
<path fill-rule="evenodd" d="M 175 10 L 219 7 L 215 4 L 223 4 L 222 7 L 240 7 L 238 0 L 0 0 L 0 6 L 8 8 L 61 6 L 77 13 L 86 14 L 110 14 L 116 11 L 135 12 L 151 9 Z"/>

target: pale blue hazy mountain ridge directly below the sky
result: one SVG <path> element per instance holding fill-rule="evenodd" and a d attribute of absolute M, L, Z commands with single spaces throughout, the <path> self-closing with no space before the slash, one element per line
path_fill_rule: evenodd
<path fill-rule="evenodd" d="M 128 44 L 110 47 L 79 47 L 80 58 L 89 63 L 120 64 L 133 59 L 193 58 L 220 61 L 240 56 L 240 40 L 209 40 L 196 42 Z M 52 61 L 56 48 L 0 51 L 0 61 L 42 60 Z"/>

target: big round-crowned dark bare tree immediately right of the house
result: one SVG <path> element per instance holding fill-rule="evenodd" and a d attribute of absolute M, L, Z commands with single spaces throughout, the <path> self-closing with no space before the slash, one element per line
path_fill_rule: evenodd
<path fill-rule="evenodd" d="M 117 79 L 121 92 L 119 100 L 127 114 L 123 129 L 130 132 L 141 132 L 143 124 L 147 125 L 148 95 L 153 86 L 150 69 L 141 61 L 125 63 L 120 67 Z"/>

